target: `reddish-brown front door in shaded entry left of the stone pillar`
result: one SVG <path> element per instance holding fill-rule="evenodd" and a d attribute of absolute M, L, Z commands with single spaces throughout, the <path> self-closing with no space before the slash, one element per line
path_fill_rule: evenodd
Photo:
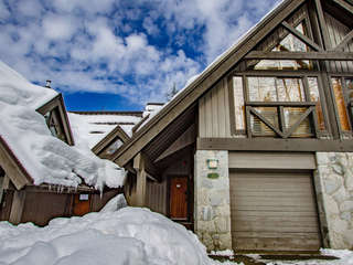
<path fill-rule="evenodd" d="M 170 218 L 174 220 L 188 219 L 188 177 L 171 179 Z"/>

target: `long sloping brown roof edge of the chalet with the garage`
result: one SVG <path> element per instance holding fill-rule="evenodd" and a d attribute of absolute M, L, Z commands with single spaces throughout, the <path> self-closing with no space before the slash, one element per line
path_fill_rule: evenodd
<path fill-rule="evenodd" d="M 120 151 L 114 157 L 114 161 L 119 166 L 125 166 L 160 131 L 185 112 L 218 80 L 224 77 L 263 38 L 269 34 L 274 28 L 279 25 L 304 2 L 306 0 L 285 0 L 281 2 L 138 130 L 133 137 L 120 148 Z"/>

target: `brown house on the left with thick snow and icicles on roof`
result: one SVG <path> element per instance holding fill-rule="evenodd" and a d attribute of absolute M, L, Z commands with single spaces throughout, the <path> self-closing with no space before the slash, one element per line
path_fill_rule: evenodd
<path fill-rule="evenodd" d="M 45 225 L 98 211 L 122 192 L 125 171 L 74 141 L 62 95 L 2 62 L 0 108 L 0 220 Z"/>

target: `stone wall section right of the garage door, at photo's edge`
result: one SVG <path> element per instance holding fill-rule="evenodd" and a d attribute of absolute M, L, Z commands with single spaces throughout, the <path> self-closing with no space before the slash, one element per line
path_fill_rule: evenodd
<path fill-rule="evenodd" d="M 325 246 L 353 248 L 353 152 L 317 152 L 315 190 Z"/>

